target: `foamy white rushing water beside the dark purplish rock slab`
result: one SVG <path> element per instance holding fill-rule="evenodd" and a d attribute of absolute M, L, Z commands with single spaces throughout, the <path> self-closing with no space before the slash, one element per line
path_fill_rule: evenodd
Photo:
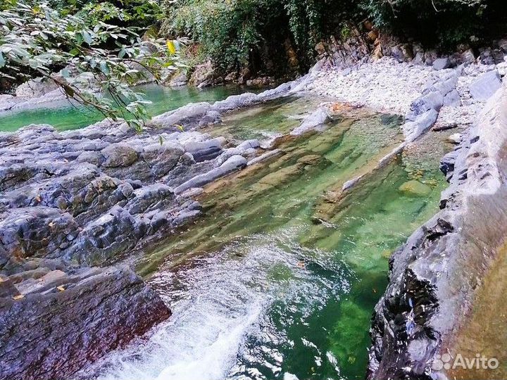
<path fill-rule="evenodd" d="M 248 377 L 236 376 L 245 361 L 280 373 L 283 356 L 272 344 L 285 337 L 283 331 L 269 327 L 267 310 L 280 299 L 323 302 L 322 293 L 331 286 L 315 281 L 301 266 L 305 255 L 315 260 L 318 253 L 295 244 L 294 234 L 295 230 L 286 230 L 253 236 L 175 272 L 156 274 L 150 282 L 170 304 L 169 321 L 156 327 L 148 340 L 134 341 L 106 357 L 84 378 L 98 374 L 100 380 L 262 379 L 253 369 Z M 290 278 L 273 279 L 273 267 L 287 268 Z M 256 342 L 253 350 L 249 339 Z"/>

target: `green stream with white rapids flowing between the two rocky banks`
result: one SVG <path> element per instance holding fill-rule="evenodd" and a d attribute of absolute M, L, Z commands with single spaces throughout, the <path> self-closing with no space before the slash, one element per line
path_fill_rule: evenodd
<path fill-rule="evenodd" d="M 301 99 L 270 107 L 253 134 L 277 132 L 273 118 L 284 131 Z M 232 115 L 222 132 L 244 137 L 263 109 Z M 444 188 L 429 156 L 371 172 L 400 139 L 396 118 L 358 113 L 281 139 L 282 156 L 208 186 L 204 217 L 137 262 L 173 316 L 84 378 L 363 379 L 389 254 Z"/>

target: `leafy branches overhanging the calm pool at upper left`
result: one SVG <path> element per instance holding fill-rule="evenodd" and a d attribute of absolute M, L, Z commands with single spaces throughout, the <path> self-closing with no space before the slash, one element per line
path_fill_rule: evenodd
<path fill-rule="evenodd" d="M 141 128 L 149 117 L 146 101 L 131 87 L 146 75 L 158 79 L 161 70 L 176 68 L 165 40 L 143 39 L 142 28 L 104 22 L 139 19 L 138 15 L 125 15 L 125 10 L 111 3 L 90 3 L 77 13 L 69 13 L 70 9 L 72 6 L 58 10 L 29 0 L 4 3 L 0 11 L 0 77 L 16 82 L 46 77 L 69 98 L 100 110 L 108 118 L 116 120 L 132 113 L 131 125 Z M 65 69 L 55 75 L 60 68 Z"/>

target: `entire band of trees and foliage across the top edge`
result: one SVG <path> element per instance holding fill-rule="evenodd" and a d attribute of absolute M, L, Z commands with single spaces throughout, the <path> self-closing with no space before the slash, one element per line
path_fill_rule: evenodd
<path fill-rule="evenodd" d="M 4 0 L 0 90 L 29 77 L 48 77 L 68 96 L 105 115 L 116 118 L 129 110 L 142 120 L 142 97 L 130 86 L 146 73 L 157 79 L 175 69 L 180 63 L 177 39 L 182 37 L 193 41 L 186 53 L 190 65 L 210 58 L 223 72 L 248 66 L 254 72 L 282 75 L 289 53 L 295 52 L 297 70 L 303 72 L 320 39 L 347 37 L 349 25 L 366 19 L 439 49 L 480 44 L 488 32 L 498 34 L 505 25 L 502 2 Z M 60 76 L 54 75 L 64 68 Z"/>

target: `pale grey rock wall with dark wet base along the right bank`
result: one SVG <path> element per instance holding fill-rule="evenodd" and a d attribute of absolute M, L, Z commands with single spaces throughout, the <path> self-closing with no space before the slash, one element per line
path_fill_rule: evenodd
<path fill-rule="evenodd" d="M 434 365 L 454 352 L 481 279 L 507 234 L 507 89 L 489 100 L 456 151 L 441 211 L 390 261 L 389 286 L 375 308 L 368 379 L 447 379 Z M 472 373 L 470 373 L 472 374 Z"/>

